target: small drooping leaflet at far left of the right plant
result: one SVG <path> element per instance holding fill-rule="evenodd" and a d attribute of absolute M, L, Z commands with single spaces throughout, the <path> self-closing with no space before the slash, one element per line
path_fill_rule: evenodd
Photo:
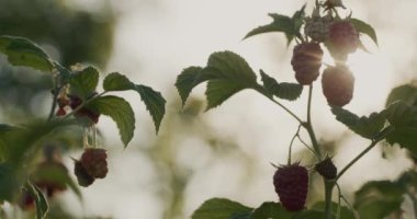
<path fill-rule="evenodd" d="M 200 72 L 203 70 L 201 67 L 189 67 L 177 77 L 176 87 L 180 93 L 182 106 L 185 105 L 187 99 L 189 97 L 192 89 L 199 83 L 195 83 L 195 79 L 199 77 Z"/>

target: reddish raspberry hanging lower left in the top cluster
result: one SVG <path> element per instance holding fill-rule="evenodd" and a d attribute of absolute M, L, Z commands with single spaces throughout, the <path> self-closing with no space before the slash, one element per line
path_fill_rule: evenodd
<path fill-rule="evenodd" d="M 300 84 L 311 84 L 319 74 L 323 50 L 317 43 L 302 43 L 294 47 L 291 65 Z"/>

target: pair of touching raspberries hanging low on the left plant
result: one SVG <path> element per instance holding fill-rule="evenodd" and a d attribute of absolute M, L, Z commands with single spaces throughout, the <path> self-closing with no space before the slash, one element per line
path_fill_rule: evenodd
<path fill-rule="evenodd" d="M 95 178 L 104 178 L 109 172 L 108 154 L 104 149 L 84 149 L 79 161 L 75 163 L 75 174 L 81 186 L 91 185 Z"/>

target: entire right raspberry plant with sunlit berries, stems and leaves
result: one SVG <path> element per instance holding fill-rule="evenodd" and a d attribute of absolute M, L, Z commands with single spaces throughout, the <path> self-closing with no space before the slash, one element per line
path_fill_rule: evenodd
<path fill-rule="evenodd" d="M 398 218 L 402 217 L 401 205 L 405 196 L 414 203 L 417 215 L 416 170 L 403 173 L 396 181 L 367 183 L 354 194 L 353 204 L 347 200 L 338 185 L 341 176 L 371 149 L 382 145 L 381 142 L 387 142 L 383 147 L 399 145 L 414 154 L 414 158 L 417 153 L 416 87 L 406 84 L 395 88 L 387 97 L 386 107 L 369 116 L 358 116 L 343 108 L 354 95 L 354 72 L 351 72 L 347 66 L 349 55 L 358 48 L 364 49 L 361 43 L 363 35 L 369 36 L 375 44 L 377 38 L 371 25 L 352 18 L 352 13 L 341 16 L 342 12 L 346 13 L 347 8 L 341 0 L 315 1 L 309 14 L 306 13 L 306 4 L 292 16 L 271 13 L 269 15 L 273 19 L 272 23 L 256 27 L 245 36 L 248 38 L 258 34 L 281 32 L 285 34 L 289 45 L 295 42 L 291 65 L 296 83 L 279 82 L 263 70 L 260 70 L 259 81 L 258 74 L 246 60 L 228 50 L 213 53 L 205 67 L 189 67 L 178 76 L 176 87 L 183 105 L 193 88 L 207 82 L 205 91 L 207 111 L 223 104 L 237 92 L 249 89 L 279 105 L 298 123 L 298 129 L 289 146 L 288 163 L 274 164 L 275 174 L 271 175 L 280 203 L 266 201 L 259 207 L 251 208 L 233 200 L 213 198 L 193 212 L 193 219 L 381 219 L 388 216 Z M 334 64 L 322 60 L 324 51 L 331 55 Z M 333 163 L 330 157 L 335 154 L 326 151 L 326 148 L 317 141 L 314 131 L 311 115 L 313 88 L 319 77 L 329 112 L 354 134 L 370 141 L 369 146 L 346 166 L 336 166 Z M 306 117 L 303 118 L 286 107 L 283 101 L 297 100 L 305 88 L 308 90 L 308 99 Z M 305 143 L 298 135 L 303 129 L 308 134 L 309 143 Z M 291 148 L 296 137 L 315 155 L 316 161 L 308 164 L 314 168 L 291 161 Z M 307 171 L 308 169 L 311 170 Z M 325 199 L 305 205 L 308 175 L 312 174 L 319 174 L 323 177 Z M 334 194 L 337 195 L 335 201 Z"/>

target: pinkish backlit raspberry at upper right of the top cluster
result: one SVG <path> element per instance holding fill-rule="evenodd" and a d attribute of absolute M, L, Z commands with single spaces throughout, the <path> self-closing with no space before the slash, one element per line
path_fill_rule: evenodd
<path fill-rule="evenodd" d="M 345 60 L 348 54 L 356 51 L 360 44 L 357 30 L 347 20 L 330 25 L 328 41 L 331 55 L 341 60 Z"/>

